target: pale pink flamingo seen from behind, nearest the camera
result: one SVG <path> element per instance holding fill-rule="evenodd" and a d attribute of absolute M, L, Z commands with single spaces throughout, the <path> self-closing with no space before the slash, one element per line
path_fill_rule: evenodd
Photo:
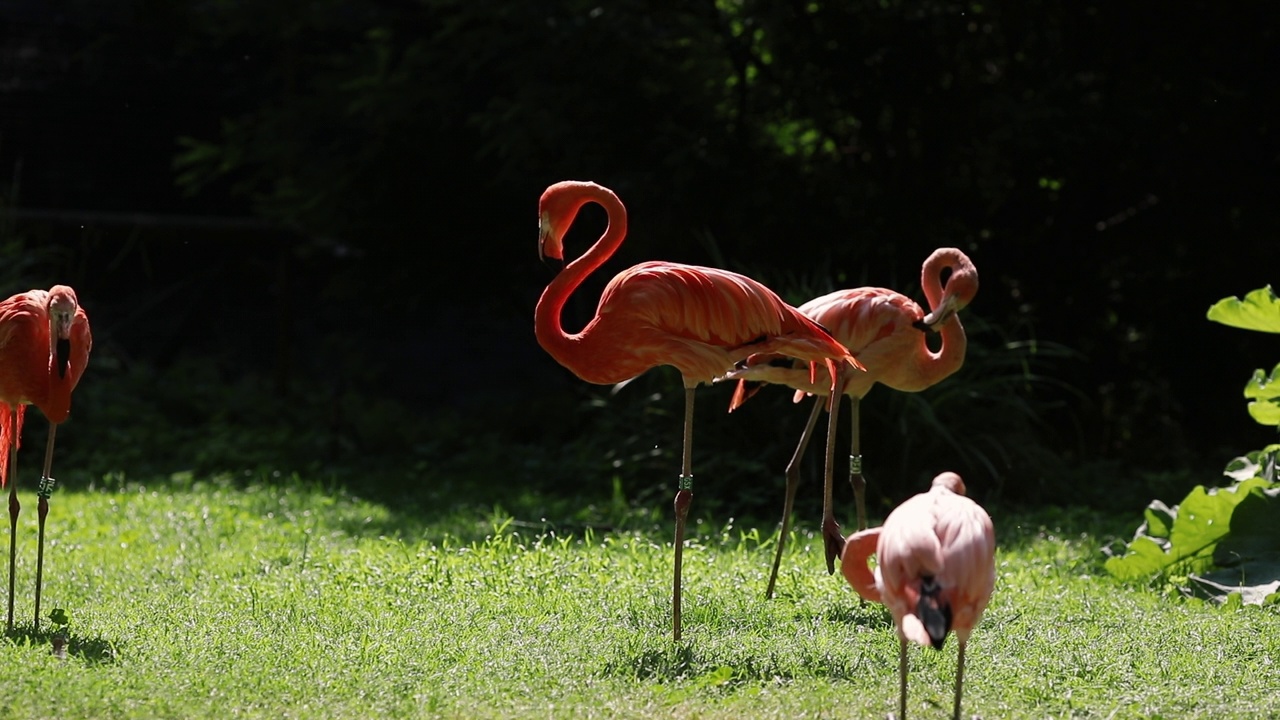
<path fill-rule="evenodd" d="M 874 574 L 867 561 L 876 553 Z M 845 543 L 845 579 L 863 598 L 883 602 L 899 637 L 899 720 L 906 720 L 906 642 L 942 650 L 959 644 L 952 717 L 960 719 L 964 648 L 996 587 L 996 530 L 991 515 L 965 497 L 955 473 L 899 505 L 884 527 L 859 530 Z"/>

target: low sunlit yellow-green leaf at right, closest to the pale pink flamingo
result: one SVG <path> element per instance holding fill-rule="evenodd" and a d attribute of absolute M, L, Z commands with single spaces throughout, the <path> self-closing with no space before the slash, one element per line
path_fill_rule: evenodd
<path fill-rule="evenodd" d="M 1129 551 L 1107 560 L 1107 571 L 1124 580 L 1139 580 L 1160 573 L 1203 574 L 1212 570 L 1213 551 L 1231 532 L 1236 505 L 1251 497 L 1254 489 L 1261 492 L 1270 487 L 1271 483 L 1262 478 L 1249 478 L 1230 488 L 1206 489 L 1197 486 L 1172 511 L 1175 515 L 1167 539 L 1149 534 L 1149 530 L 1158 533 L 1164 528 L 1152 523 L 1148 514 L 1129 543 Z M 1158 516 L 1153 506 L 1148 511 Z"/>

